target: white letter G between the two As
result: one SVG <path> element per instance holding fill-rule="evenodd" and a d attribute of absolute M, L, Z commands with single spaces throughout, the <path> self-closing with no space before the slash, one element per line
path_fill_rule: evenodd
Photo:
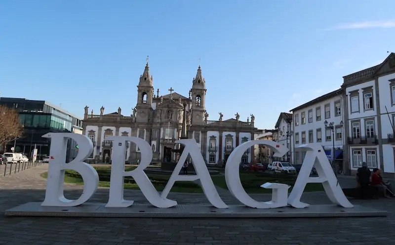
<path fill-rule="evenodd" d="M 231 194 L 237 198 L 242 204 L 254 207 L 254 208 L 276 208 L 286 206 L 286 200 L 288 196 L 288 188 L 283 185 L 274 185 L 272 183 L 266 183 L 262 185 L 263 188 L 273 189 L 272 201 L 260 203 L 252 199 L 244 190 L 241 185 L 239 175 L 239 164 L 241 156 L 244 152 L 253 145 L 266 145 L 275 152 L 275 157 L 282 157 L 288 152 L 288 149 L 283 145 L 280 145 L 272 140 L 252 140 L 242 143 L 237 146 L 236 149 L 231 153 L 226 162 L 225 166 L 225 180 Z M 285 188 L 284 188 L 285 187 Z"/>

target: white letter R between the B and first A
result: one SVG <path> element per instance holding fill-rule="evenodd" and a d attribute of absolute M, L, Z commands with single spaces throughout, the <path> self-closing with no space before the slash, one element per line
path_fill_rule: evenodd
<path fill-rule="evenodd" d="M 141 192 L 150 204 L 156 207 L 172 207 L 177 202 L 161 198 L 154 185 L 151 183 L 144 169 L 152 160 L 152 148 L 147 141 L 138 137 L 110 136 L 106 140 L 113 140 L 113 155 L 110 178 L 110 195 L 106 207 L 128 207 L 133 201 L 123 200 L 123 178 L 133 177 Z M 126 142 L 134 142 L 140 149 L 141 161 L 132 171 L 125 171 Z"/>

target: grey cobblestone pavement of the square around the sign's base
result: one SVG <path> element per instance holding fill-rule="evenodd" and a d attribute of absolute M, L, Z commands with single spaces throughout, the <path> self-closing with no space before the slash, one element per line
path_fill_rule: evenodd
<path fill-rule="evenodd" d="M 27 202 L 40 202 L 47 165 L 0 178 L 0 210 Z M 67 184 L 66 196 L 77 197 L 81 186 Z M 227 204 L 237 204 L 220 193 Z M 268 200 L 268 195 L 252 195 Z M 139 191 L 125 190 L 127 199 L 147 203 Z M 175 194 L 180 204 L 207 203 L 202 194 Z M 99 189 L 93 202 L 105 203 L 108 189 Z M 329 203 L 324 193 L 307 193 L 310 204 Z M 352 201 L 389 211 L 388 217 L 293 219 L 146 219 L 60 218 L 0 216 L 0 244 L 50 245 L 390 245 L 395 244 L 395 199 Z"/>

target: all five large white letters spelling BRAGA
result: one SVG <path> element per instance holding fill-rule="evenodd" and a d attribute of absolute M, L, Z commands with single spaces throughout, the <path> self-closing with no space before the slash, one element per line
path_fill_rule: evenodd
<path fill-rule="evenodd" d="M 77 206 L 88 201 L 95 194 L 99 185 L 99 175 L 97 171 L 89 164 L 83 162 L 93 151 L 92 141 L 81 134 L 76 133 L 48 133 L 43 135 L 45 138 L 51 139 L 50 160 L 48 167 L 48 178 L 46 185 L 45 200 L 42 206 Z M 79 145 L 77 157 L 70 163 L 66 161 L 67 140 L 71 138 Z M 148 142 L 138 137 L 127 136 L 110 136 L 106 140 L 113 141 L 112 148 L 112 166 L 111 166 L 111 183 L 109 200 L 106 207 L 128 207 L 133 204 L 131 200 L 123 198 L 123 178 L 131 176 L 136 181 L 143 195 L 148 202 L 159 208 L 168 208 L 177 205 L 175 200 L 167 199 L 171 188 L 175 181 L 195 181 L 199 180 L 207 200 L 217 208 L 227 208 L 214 186 L 210 177 L 206 164 L 200 153 L 200 149 L 195 139 L 182 139 L 175 143 L 183 144 L 184 151 L 171 175 L 164 190 L 159 194 L 151 183 L 144 169 L 152 161 L 152 148 Z M 124 156 L 127 150 L 126 142 L 135 143 L 141 151 L 141 160 L 137 168 L 131 171 L 125 171 Z M 343 207 L 353 207 L 341 187 L 337 184 L 337 178 L 331 168 L 331 165 L 322 151 L 319 144 L 310 144 L 300 146 L 306 151 L 306 157 L 303 161 L 302 168 L 297 177 L 295 185 L 288 197 L 289 186 L 278 183 L 265 183 L 261 187 L 273 189 L 272 201 L 258 202 L 252 199 L 243 189 L 239 176 L 239 163 L 244 152 L 257 144 L 262 144 L 275 152 L 274 157 L 282 157 L 288 149 L 283 145 L 271 140 L 253 140 L 242 143 L 237 146 L 228 158 L 225 167 L 225 179 L 230 193 L 237 198 L 242 204 L 254 208 L 276 208 L 291 205 L 297 208 L 309 206 L 300 202 L 300 198 L 307 183 L 322 183 L 329 199 L 334 203 Z M 187 160 L 188 155 L 192 159 L 192 163 L 196 170 L 196 175 L 179 175 L 180 170 Z M 310 172 L 316 167 L 318 177 L 309 177 Z M 68 200 L 63 194 L 63 183 L 65 169 L 72 169 L 82 176 L 84 186 L 83 193 L 77 200 Z"/>

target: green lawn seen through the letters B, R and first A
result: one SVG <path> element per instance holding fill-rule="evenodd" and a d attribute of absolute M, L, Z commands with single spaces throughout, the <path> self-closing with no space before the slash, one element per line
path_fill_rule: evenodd
<path fill-rule="evenodd" d="M 136 167 L 125 167 L 126 171 L 133 170 Z M 110 167 L 95 167 L 97 173 L 99 174 L 99 187 L 110 187 L 110 176 L 111 176 L 111 168 Z M 48 173 L 42 173 L 41 177 L 47 178 Z M 157 191 L 162 191 L 166 186 L 170 175 L 155 175 L 155 174 L 147 174 L 150 178 L 152 184 L 157 189 Z M 83 185 L 83 181 L 78 172 L 74 170 L 66 170 L 65 173 L 65 183 L 73 183 L 77 185 Z M 134 182 L 133 178 L 125 177 L 124 178 L 124 188 L 139 190 L 139 187 Z M 183 193 L 201 193 L 202 189 L 199 185 L 191 182 L 191 181 L 176 181 L 171 188 L 171 192 L 183 192 Z"/>

